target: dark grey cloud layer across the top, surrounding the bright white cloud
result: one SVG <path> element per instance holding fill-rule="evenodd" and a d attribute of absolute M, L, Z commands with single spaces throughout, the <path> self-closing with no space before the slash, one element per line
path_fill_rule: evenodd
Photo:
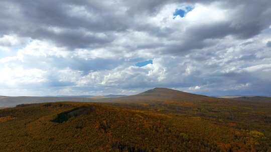
<path fill-rule="evenodd" d="M 111 4 L 95 0 L 1 1 L 0 31 L 2 35 L 16 33 L 34 39 L 47 39 L 59 46 L 70 48 L 103 47 L 117 38 L 116 32 L 125 32 L 127 29 L 149 32 L 156 37 L 170 37 L 174 30 L 144 22 L 135 22 L 134 18 L 140 17 L 142 13 L 155 15 L 165 4 L 173 2 L 183 3 L 186 1 L 133 0 L 112 2 Z M 212 0 L 189 1 L 190 4 L 196 2 L 208 4 Z M 186 37 L 183 38 L 184 44 L 173 49 L 166 48 L 168 51 L 163 53 L 202 48 L 206 46 L 205 39 L 221 38 L 230 34 L 239 38 L 249 38 L 258 34 L 271 23 L 269 19 L 266 19 L 271 15 L 268 10 L 268 5 L 271 3 L 269 0 L 220 2 L 221 7 L 232 9 L 232 13 L 228 14 L 231 18 L 229 21 L 192 26 L 188 29 Z M 116 13 L 118 10 L 114 8 L 116 6 L 126 10 L 122 13 Z M 73 8 L 82 9 L 90 16 L 82 15 L 78 10 L 71 12 Z M 50 27 L 59 28 L 61 31 L 50 30 Z M 91 32 L 91 34 L 86 34 L 87 32 Z M 99 36 L 99 34 L 103 34 L 103 36 Z M 194 41 L 199 44 L 190 48 Z M 151 45 L 147 44 L 146 46 Z"/>

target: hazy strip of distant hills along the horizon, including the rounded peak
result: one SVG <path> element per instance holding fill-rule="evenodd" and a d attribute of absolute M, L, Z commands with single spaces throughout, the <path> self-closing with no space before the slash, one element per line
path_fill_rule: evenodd
<path fill-rule="evenodd" d="M 194 93 L 188 93 L 170 88 L 156 87 L 135 95 L 108 94 L 94 95 L 57 95 L 57 96 L 0 96 L 0 107 L 15 106 L 23 103 L 41 103 L 56 101 L 78 102 L 116 102 L 116 103 L 169 103 L 169 102 L 217 102 L 227 100 L 270 102 L 271 97 L 264 96 L 230 96 L 212 97 Z"/>

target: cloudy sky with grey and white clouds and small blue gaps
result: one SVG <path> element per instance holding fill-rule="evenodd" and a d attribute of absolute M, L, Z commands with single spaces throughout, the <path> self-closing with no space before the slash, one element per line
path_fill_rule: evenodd
<path fill-rule="evenodd" d="M 1 0 L 0 95 L 271 95 L 270 0 Z"/>

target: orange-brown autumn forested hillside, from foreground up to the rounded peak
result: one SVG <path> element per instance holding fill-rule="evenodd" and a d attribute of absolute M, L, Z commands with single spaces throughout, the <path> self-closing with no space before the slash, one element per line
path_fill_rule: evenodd
<path fill-rule="evenodd" d="M 0 151 L 271 150 L 271 103 L 167 88 L 102 101 L 1 109 Z"/>

